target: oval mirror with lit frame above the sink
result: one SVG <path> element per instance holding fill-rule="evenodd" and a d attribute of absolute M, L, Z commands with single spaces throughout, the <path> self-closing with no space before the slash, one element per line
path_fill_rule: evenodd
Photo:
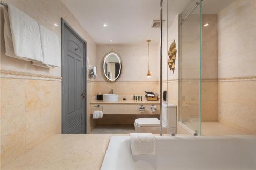
<path fill-rule="evenodd" d="M 121 74 L 122 61 L 116 52 L 109 52 L 103 59 L 103 72 L 108 81 L 116 81 Z"/>

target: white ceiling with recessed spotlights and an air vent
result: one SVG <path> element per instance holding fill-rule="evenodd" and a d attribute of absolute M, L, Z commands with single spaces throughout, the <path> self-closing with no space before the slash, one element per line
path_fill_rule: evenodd
<path fill-rule="evenodd" d="M 151 28 L 160 19 L 159 0 L 62 0 L 96 44 L 141 44 L 147 39 L 158 43 L 160 29 Z M 194 0 L 195 1 L 195 0 Z M 163 4 L 163 19 L 168 25 L 192 0 L 168 0 Z M 216 14 L 234 0 L 204 0 L 203 13 Z M 218 3 L 217 3 L 218 2 Z M 192 4 L 193 6 L 193 4 Z M 104 23 L 108 26 L 103 27 Z M 164 27 L 166 27 L 166 22 Z M 112 40 L 112 42 L 110 42 Z"/>

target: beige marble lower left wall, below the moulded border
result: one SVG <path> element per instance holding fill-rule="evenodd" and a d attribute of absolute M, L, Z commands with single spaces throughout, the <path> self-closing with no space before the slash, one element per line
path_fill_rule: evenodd
<path fill-rule="evenodd" d="M 61 81 L 1 78 L 1 166 L 61 133 Z"/>

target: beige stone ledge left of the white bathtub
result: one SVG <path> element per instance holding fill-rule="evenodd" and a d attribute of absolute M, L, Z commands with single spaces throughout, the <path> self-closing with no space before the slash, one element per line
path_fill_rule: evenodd
<path fill-rule="evenodd" d="M 113 134 L 53 135 L 5 169 L 100 169 Z"/>

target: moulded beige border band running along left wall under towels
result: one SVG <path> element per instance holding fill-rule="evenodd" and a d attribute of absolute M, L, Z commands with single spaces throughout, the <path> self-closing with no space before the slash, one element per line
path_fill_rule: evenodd
<path fill-rule="evenodd" d="M 0 74 L 1 78 L 62 81 L 62 78 L 59 76 L 34 74 L 30 72 L 11 71 L 4 69 L 0 70 Z"/>

